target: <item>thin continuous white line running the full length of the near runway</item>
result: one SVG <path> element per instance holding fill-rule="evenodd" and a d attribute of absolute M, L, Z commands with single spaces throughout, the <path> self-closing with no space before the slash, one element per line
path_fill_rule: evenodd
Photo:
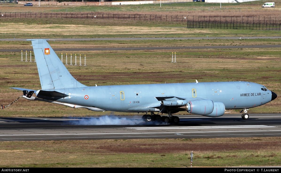
<path fill-rule="evenodd" d="M 210 132 L 135 132 L 135 133 L 71 133 L 71 134 L 4 134 L 0 136 L 55 136 L 55 135 L 105 135 L 105 134 L 165 134 L 165 133 L 223 133 L 223 132 L 275 132 L 281 130 L 257 130 L 257 131 L 210 131 Z"/>

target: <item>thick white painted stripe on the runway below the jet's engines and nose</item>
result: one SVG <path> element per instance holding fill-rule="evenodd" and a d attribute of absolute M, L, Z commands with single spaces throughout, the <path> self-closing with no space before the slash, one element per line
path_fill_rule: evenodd
<path fill-rule="evenodd" d="M 224 129 L 224 128 L 264 128 L 275 127 L 267 125 L 219 125 L 219 126 L 182 126 L 182 127 L 124 127 L 135 130 L 168 130 L 168 129 Z"/>

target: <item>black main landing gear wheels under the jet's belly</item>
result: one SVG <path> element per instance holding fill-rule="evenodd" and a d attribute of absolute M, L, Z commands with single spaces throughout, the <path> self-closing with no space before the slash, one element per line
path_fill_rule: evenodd
<path fill-rule="evenodd" d="M 169 116 L 160 116 L 158 114 L 154 114 L 153 112 L 149 114 L 145 114 L 142 116 L 142 119 L 145 122 L 164 122 L 164 123 L 171 123 L 171 124 L 178 124 L 180 122 L 180 118 L 177 116 L 173 116 L 169 114 Z"/>

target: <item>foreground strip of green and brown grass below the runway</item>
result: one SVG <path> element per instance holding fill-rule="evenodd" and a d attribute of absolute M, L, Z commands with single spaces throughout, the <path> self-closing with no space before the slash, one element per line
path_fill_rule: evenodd
<path fill-rule="evenodd" d="M 191 151 L 194 166 L 278 165 L 281 153 L 280 137 L 8 141 L 0 147 L 1 167 L 182 167 Z"/>

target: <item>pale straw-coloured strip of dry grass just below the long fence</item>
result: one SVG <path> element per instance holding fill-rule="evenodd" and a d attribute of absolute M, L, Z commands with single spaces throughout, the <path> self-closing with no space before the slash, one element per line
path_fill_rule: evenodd
<path fill-rule="evenodd" d="M 166 28 L 166 27 L 138 27 L 138 26 L 85 26 L 85 25 L 59 25 L 59 24 L 24 24 L 24 23 L 1 23 L 1 29 L 3 29 L 2 34 L 15 34 L 14 30 L 10 28 L 17 28 L 17 34 L 32 32 L 44 35 L 52 31 L 53 35 L 115 35 L 115 34 L 139 34 L 139 33 L 150 33 L 150 34 L 184 34 L 196 32 L 194 29 L 184 30 L 182 28 Z M 106 32 L 105 32 L 106 31 Z M 199 32 L 199 30 L 198 30 Z M 211 33 L 211 32 L 209 32 Z M 18 38 L 15 35 L 16 38 Z"/>

